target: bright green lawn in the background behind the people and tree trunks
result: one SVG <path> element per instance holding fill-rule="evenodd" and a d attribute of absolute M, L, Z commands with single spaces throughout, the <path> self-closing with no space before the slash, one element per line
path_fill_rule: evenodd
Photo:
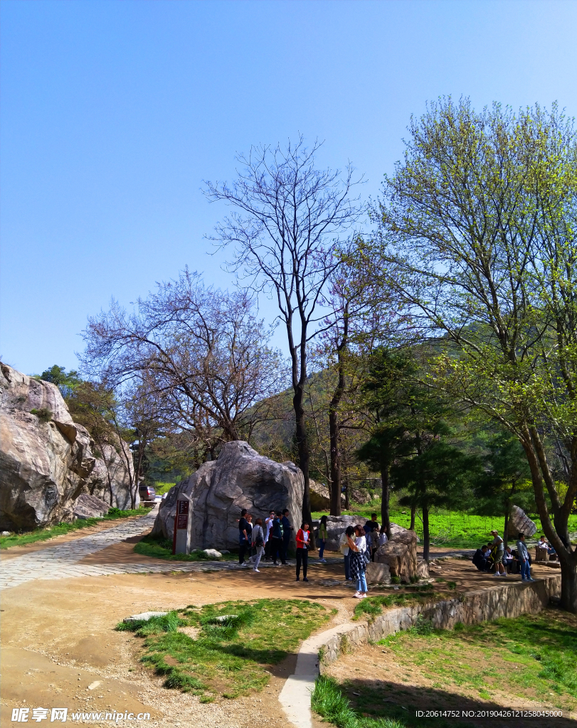
<path fill-rule="evenodd" d="M 374 512 L 377 513 L 377 521 L 380 522 L 380 501 L 374 501 L 367 506 L 358 506 L 354 510 L 346 510 L 342 513 L 358 515 L 359 521 L 364 523 Z M 321 518 L 321 515 L 327 515 L 327 513 L 313 513 L 313 518 Z M 406 509 L 393 509 L 390 511 L 390 520 L 408 529 L 411 524 L 411 513 Z M 431 513 L 429 520 L 433 545 L 451 548 L 478 548 L 492 539 L 491 529 L 497 529 L 499 533 L 503 533 L 503 518 L 438 510 Z M 538 518 L 533 520 L 537 526 L 537 533 L 541 534 L 541 521 Z M 423 524 L 419 518 L 415 523 L 415 530 L 417 535 L 423 538 Z M 577 531 L 577 515 L 570 516 L 569 531 Z"/>

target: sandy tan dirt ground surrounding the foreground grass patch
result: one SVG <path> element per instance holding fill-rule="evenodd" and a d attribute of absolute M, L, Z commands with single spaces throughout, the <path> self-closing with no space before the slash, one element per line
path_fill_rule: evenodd
<path fill-rule="evenodd" d="M 130 528 L 138 531 L 138 524 Z M 116 536 L 125 532 L 121 529 Z M 141 640 L 131 633 L 115 632 L 114 626 L 129 614 L 149 610 L 165 611 L 227 599 L 278 597 L 313 599 L 329 609 L 336 608 L 337 617 L 331 622 L 335 625 L 348 620 L 357 604 L 352 598 L 353 589 L 342 579 L 342 558 L 327 554 L 326 565 L 313 559 L 309 583 L 295 582 L 291 566 L 267 567 L 260 574 L 251 569 L 190 574 L 177 569 L 218 569 L 225 565 L 148 559 L 133 552 L 138 534 L 124 540 L 111 538 L 109 545 L 99 540 L 113 535 L 110 529 L 98 529 L 88 537 L 82 534 L 80 538 L 62 539 L 57 545 L 51 542 L 50 547 L 31 551 L 20 560 L 21 565 L 34 558 L 37 566 L 37 561 L 49 563 L 51 553 L 73 553 L 74 575 L 67 576 L 60 570 L 58 578 L 52 579 L 41 574 L 41 578 L 28 579 L 2 592 L 3 724 L 9 723 L 12 708 L 42 705 L 66 706 L 71 711 L 115 709 L 151 713 L 150 721 L 119 721 L 119 725 L 199 728 L 214 724 L 219 728 L 248 728 L 258 716 L 259 723 L 286 728 L 278 694 L 294 670 L 294 657 L 272 670 L 270 685 L 263 692 L 233 703 L 221 700 L 201 705 L 197 697 L 163 688 L 162 678 L 152 675 L 138 661 Z M 106 571 L 140 568 L 142 564 L 149 571 L 158 569 L 163 573 Z M 14 569 L 18 562 L 10 559 L 6 566 Z M 226 566 L 229 569 L 231 565 Z M 440 569 L 442 578 L 457 582 L 459 590 L 488 588 L 497 581 L 480 574 L 466 561 L 445 561 Z M 546 567 L 541 569 L 550 573 Z M 106 573 L 109 575 L 98 575 Z M 435 585 L 436 589 L 438 586 L 444 585 Z M 91 722 L 98 726 L 111 724 Z"/>

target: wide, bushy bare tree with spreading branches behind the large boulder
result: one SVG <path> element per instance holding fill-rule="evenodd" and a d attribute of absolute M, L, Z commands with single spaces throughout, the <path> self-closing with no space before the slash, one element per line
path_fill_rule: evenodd
<path fill-rule="evenodd" d="M 246 292 L 206 288 L 198 274 L 158 285 L 127 313 L 115 301 L 89 319 L 85 371 L 115 387 L 146 380 L 170 424 L 197 432 L 214 456 L 219 442 L 250 436 L 283 365 Z"/>

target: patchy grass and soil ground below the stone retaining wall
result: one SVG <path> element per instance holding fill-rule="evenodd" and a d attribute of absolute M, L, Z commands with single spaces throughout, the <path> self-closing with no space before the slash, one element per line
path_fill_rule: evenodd
<path fill-rule="evenodd" d="M 341 683 L 317 681 L 313 708 L 339 728 L 457 728 L 476 721 L 425 719 L 415 711 L 498 709 L 524 699 L 575 711 L 577 617 L 547 609 L 455 630 L 434 630 L 421 620 L 368 647 L 363 664 L 373 669 L 349 670 Z"/>

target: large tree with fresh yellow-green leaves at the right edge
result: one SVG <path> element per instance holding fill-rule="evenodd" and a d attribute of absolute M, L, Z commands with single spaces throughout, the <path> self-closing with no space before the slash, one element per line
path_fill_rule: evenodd
<path fill-rule="evenodd" d="M 577 613 L 577 132 L 556 105 L 444 98 L 412 119 L 363 255 L 446 347 L 429 383 L 509 430 Z M 567 464 L 562 488 L 556 459 Z"/>

